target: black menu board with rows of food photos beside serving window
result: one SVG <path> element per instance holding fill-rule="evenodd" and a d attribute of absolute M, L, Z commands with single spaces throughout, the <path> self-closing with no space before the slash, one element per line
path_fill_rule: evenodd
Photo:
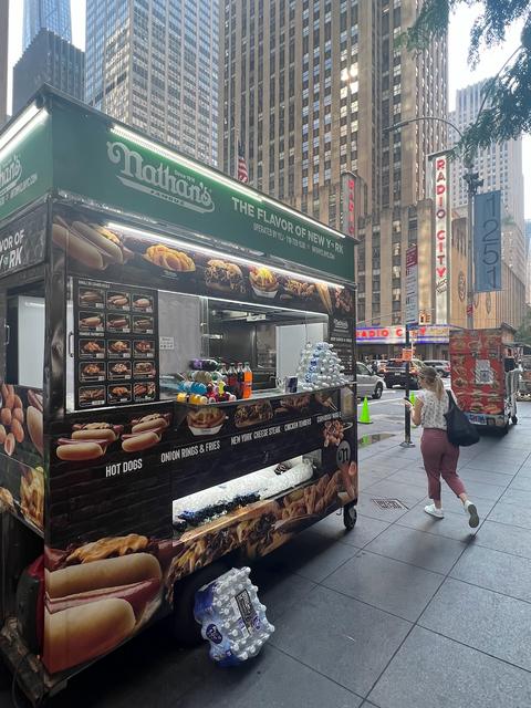
<path fill-rule="evenodd" d="M 159 399 L 157 293 L 74 279 L 75 407 Z"/>

